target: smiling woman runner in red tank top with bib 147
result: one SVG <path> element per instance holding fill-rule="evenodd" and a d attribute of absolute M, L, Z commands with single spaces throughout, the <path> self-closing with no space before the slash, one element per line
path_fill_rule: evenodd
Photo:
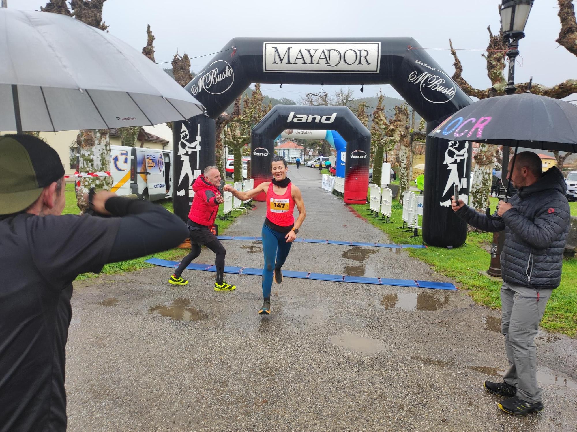
<path fill-rule="evenodd" d="M 224 185 L 224 191 L 231 192 L 243 201 L 254 198 L 259 193 L 267 194 L 267 218 L 263 224 L 263 307 L 259 314 L 271 313 L 271 287 L 274 273 L 275 282 L 280 284 L 283 274 L 280 270 L 288 256 L 298 229 L 305 220 L 305 203 L 301 190 L 287 177 L 287 162 L 282 156 L 272 158 L 272 181 L 265 181 L 250 191 L 237 191 L 231 184 Z M 298 218 L 293 216 L 294 206 L 298 208 Z M 276 257 L 276 260 L 275 260 Z"/>

